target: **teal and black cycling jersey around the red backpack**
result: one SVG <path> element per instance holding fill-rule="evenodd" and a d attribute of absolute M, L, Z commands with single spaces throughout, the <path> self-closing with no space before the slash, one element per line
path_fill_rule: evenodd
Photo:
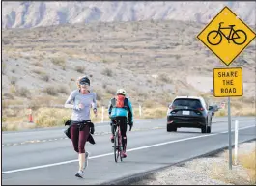
<path fill-rule="evenodd" d="M 133 122 L 132 106 L 127 97 L 124 100 L 124 108 L 116 108 L 115 107 L 115 98 L 112 98 L 109 102 L 108 114 L 109 114 L 110 118 L 127 117 L 129 122 Z"/>

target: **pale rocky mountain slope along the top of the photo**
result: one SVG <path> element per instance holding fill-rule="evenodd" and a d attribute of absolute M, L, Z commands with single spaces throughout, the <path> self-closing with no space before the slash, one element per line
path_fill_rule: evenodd
<path fill-rule="evenodd" d="M 3 28 L 30 28 L 65 23 L 183 20 L 209 22 L 224 6 L 247 24 L 255 24 L 255 2 L 2 2 Z"/>

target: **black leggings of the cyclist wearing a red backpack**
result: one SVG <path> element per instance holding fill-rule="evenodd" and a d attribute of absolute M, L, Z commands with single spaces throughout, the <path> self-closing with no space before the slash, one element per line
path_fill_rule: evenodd
<path fill-rule="evenodd" d="M 128 139 L 127 139 L 128 119 L 127 119 L 127 117 L 116 117 L 115 119 L 120 120 L 120 132 L 121 132 L 121 136 L 122 136 L 122 146 L 123 146 L 124 151 L 126 151 L 127 143 L 128 143 Z M 115 119 L 111 119 L 112 123 L 115 123 Z M 117 126 L 111 124 L 112 134 L 115 133 L 116 129 L 117 129 Z"/>

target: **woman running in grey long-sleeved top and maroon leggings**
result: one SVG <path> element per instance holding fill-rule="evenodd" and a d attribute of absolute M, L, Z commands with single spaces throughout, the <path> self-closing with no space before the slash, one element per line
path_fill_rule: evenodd
<path fill-rule="evenodd" d="M 79 170 L 75 173 L 77 177 L 83 177 L 84 170 L 88 166 L 89 153 L 85 151 L 84 146 L 90 133 L 94 133 L 94 125 L 90 120 L 91 106 L 97 117 L 96 93 L 90 92 L 90 79 L 87 76 L 77 79 L 77 90 L 71 92 L 71 95 L 65 103 L 65 108 L 72 109 L 71 115 L 71 141 L 74 150 L 78 153 Z M 73 104 L 71 104 L 73 102 Z"/>

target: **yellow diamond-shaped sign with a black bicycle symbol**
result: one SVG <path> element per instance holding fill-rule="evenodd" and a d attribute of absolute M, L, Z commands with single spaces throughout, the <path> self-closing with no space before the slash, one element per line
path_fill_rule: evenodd
<path fill-rule="evenodd" d="M 255 33 L 228 7 L 224 7 L 197 38 L 229 66 L 255 39 Z"/>

